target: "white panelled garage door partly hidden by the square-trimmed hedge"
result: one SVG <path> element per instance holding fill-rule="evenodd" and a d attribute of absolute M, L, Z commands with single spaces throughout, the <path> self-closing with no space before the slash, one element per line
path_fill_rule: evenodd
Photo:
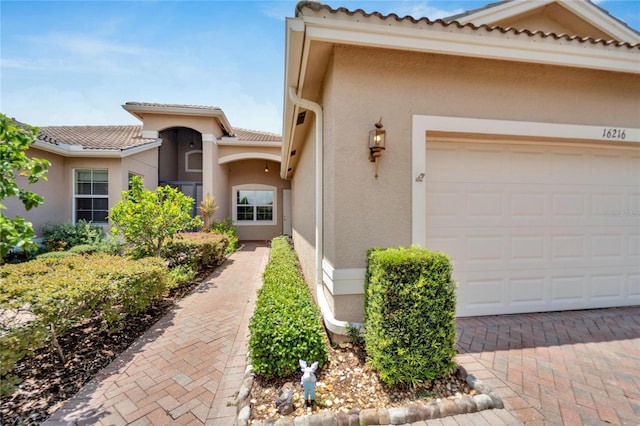
<path fill-rule="evenodd" d="M 427 142 L 426 246 L 458 315 L 640 304 L 640 149 Z"/>

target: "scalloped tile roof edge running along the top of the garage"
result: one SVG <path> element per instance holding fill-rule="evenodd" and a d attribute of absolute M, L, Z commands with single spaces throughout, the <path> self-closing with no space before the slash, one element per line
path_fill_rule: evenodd
<path fill-rule="evenodd" d="M 502 4 L 504 2 L 498 2 L 493 5 Z M 333 9 L 331 6 L 322 4 L 317 1 L 300 1 L 296 6 L 296 17 L 302 15 L 302 10 L 308 8 L 314 12 L 322 12 L 326 11 L 333 15 L 344 14 L 349 17 L 356 17 L 356 15 L 360 15 L 363 18 L 371 18 L 376 17 L 382 21 L 396 21 L 399 23 L 413 23 L 413 24 L 425 24 L 431 27 L 440 27 L 442 29 L 466 29 L 471 31 L 479 31 L 485 30 L 490 33 L 501 33 L 501 34 L 514 34 L 514 35 L 524 35 L 530 38 L 537 37 L 541 39 L 554 39 L 554 40 L 567 40 L 575 43 L 590 43 L 590 44 L 598 44 L 604 46 L 613 46 L 613 47 L 624 47 L 629 49 L 637 49 L 640 50 L 640 43 L 629 43 L 618 40 L 605 40 L 605 39 L 595 39 L 593 37 L 581 37 L 577 35 L 568 35 L 568 34 L 556 34 L 556 33 L 545 33 L 543 31 L 530 31 L 527 29 L 516 29 L 516 28 L 502 28 L 499 26 L 488 26 L 488 25 L 474 25 L 473 23 L 462 24 L 456 20 L 449 20 L 451 18 L 446 19 L 436 19 L 435 21 L 430 20 L 429 18 L 420 18 L 416 19 L 413 16 L 404 16 L 400 17 L 395 13 L 390 13 L 388 15 L 384 15 L 380 12 L 365 12 L 362 9 L 349 10 L 345 7 L 340 7 L 337 9 Z M 479 9 L 478 9 L 479 10 Z M 477 10 L 476 10 L 477 11 Z M 460 15 L 458 15 L 459 17 Z"/>

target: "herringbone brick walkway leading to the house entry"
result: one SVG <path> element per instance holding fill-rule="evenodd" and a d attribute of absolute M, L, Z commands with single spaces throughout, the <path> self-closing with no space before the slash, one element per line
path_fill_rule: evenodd
<path fill-rule="evenodd" d="M 245 244 L 45 425 L 233 425 L 268 257 Z"/>

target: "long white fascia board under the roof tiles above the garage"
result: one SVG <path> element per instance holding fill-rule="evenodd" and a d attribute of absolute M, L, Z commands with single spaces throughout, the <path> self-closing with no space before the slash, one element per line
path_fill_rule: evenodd
<path fill-rule="evenodd" d="M 640 73 L 637 49 L 590 46 L 527 35 L 391 27 L 307 17 L 308 40 L 606 71 Z M 520 39 L 519 39 L 520 38 Z M 307 41 L 308 41 L 307 40 Z"/>

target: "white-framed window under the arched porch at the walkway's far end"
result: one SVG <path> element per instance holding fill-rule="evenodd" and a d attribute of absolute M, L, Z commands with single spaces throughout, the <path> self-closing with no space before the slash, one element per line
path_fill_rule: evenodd
<path fill-rule="evenodd" d="M 267 185 L 234 186 L 233 219 L 239 225 L 275 225 L 276 188 Z"/>

